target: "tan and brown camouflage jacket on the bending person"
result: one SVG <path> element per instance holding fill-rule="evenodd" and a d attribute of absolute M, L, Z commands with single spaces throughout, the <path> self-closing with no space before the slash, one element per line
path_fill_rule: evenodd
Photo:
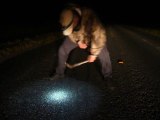
<path fill-rule="evenodd" d="M 90 53 L 98 56 L 107 41 L 106 30 L 95 13 L 88 9 L 81 9 L 81 27 L 79 31 L 74 31 L 69 38 L 74 43 L 82 41 L 89 46 Z"/>

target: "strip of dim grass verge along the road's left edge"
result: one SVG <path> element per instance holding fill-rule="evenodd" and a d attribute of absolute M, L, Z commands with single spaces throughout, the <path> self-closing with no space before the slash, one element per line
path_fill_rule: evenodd
<path fill-rule="evenodd" d="M 13 43 L 8 42 L 0 46 L 0 63 L 19 55 L 25 51 L 50 44 L 57 39 L 57 34 L 48 33 L 44 35 L 35 36 L 33 38 L 25 38 L 24 40 L 17 40 Z"/>

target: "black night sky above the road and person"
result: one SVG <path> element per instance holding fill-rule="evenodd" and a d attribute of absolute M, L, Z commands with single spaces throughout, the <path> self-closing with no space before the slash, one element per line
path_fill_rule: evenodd
<path fill-rule="evenodd" d="M 58 15 L 69 0 L 51 1 L 6 1 L 1 4 L 1 37 L 13 31 L 25 29 L 53 30 L 58 23 Z M 70 0 L 73 1 L 73 0 Z M 160 26 L 159 4 L 152 1 L 118 0 L 76 0 L 77 3 L 95 10 L 100 19 L 106 23 L 143 24 Z M 103 1 L 103 2 L 102 2 Z M 15 32 L 13 32 L 15 34 Z M 17 34 L 17 33 L 16 33 Z"/>

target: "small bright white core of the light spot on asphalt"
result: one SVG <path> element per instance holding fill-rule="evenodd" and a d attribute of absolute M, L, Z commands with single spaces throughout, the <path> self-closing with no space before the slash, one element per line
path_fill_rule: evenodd
<path fill-rule="evenodd" d="M 47 102 L 62 103 L 67 102 L 71 98 L 71 93 L 65 90 L 51 91 L 47 94 Z"/>

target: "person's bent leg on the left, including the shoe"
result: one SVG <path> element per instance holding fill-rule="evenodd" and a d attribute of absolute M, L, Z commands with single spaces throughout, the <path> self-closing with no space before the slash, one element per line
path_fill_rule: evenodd
<path fill-rule="evenodd" d="M 71 52 L 71 50 L 73 50 L 76 47 L 77 45 L 73 43 L 71 40 L 69 40 L 68 37 L 64 40 L 64 42 L 58 50 L 58 66 L 56 67 L 56 73 L 53 78 L 58 79 L 58 77 L 64 76 L 66 68 L 65 62 L 67 61 L 68 55 Z"/>

